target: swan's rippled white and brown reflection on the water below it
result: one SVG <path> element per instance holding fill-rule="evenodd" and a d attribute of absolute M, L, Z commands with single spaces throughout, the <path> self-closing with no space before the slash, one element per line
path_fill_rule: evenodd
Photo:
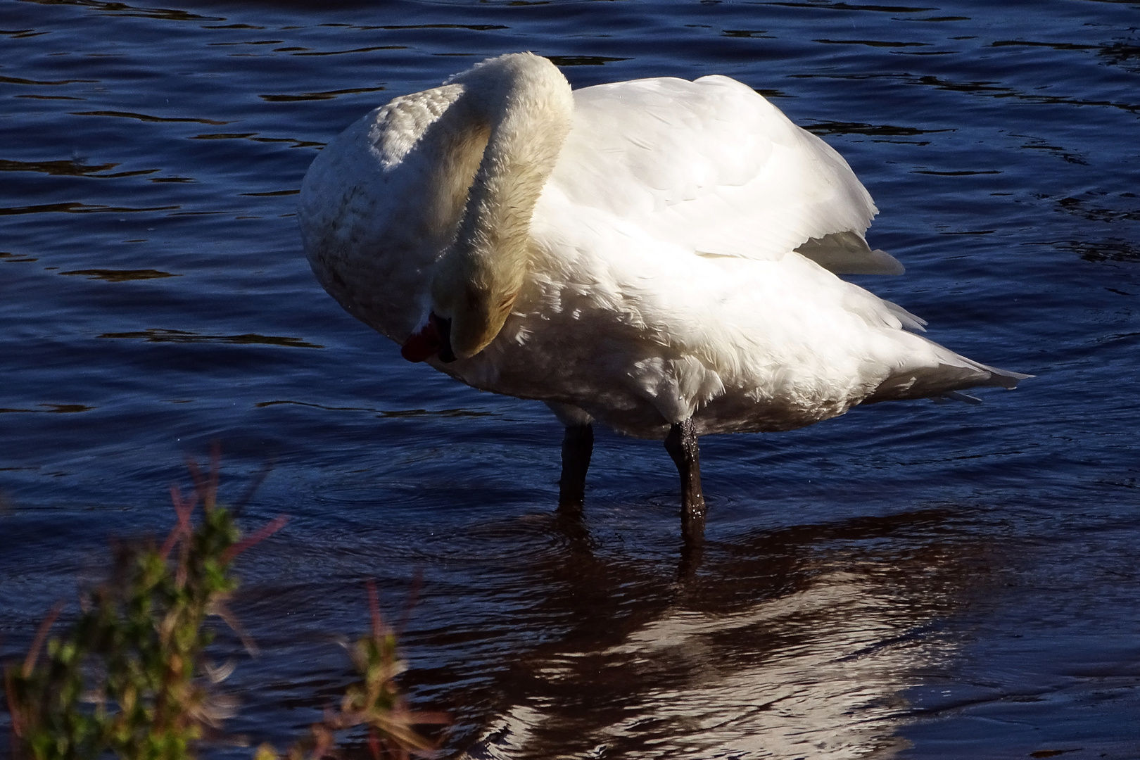
<path fill-rule="evenodd" d="M 906 746 L 906 689 L 954 654 L 938 622 L 972 554 L 894 534 L 946 517 L 711 545 L 659 604 L 640 599 L 635 620 L 610 604 L 636 582 L 629 569 L 571 540 L 561 572 L 580 587 L 562 603 L 580 605 L 580 624 L 519 663 L 465 757 L 891 757 Z"/>

